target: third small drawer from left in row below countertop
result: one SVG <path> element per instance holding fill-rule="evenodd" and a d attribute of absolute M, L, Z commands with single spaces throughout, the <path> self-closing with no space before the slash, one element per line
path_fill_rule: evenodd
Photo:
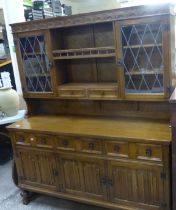
<path fill-rule="evenodd" d="M 75 151 L 76 150 L 75 140 L 70 137 L 57 137 L 56 147 L 59 150 Z"/>

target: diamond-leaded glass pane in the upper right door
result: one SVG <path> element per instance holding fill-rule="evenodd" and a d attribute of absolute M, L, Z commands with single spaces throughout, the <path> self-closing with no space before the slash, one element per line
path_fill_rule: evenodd
<path fill-rule="evenodd" d="M 121 27 L 126 93 L 163 93 L 163 27 L 160 23 Z"/>

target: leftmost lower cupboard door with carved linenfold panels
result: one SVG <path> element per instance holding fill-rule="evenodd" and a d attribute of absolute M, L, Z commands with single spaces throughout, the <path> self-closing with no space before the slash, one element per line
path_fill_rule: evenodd
<path fill-rule="evenodd" d="M 16 165 L 19 183 L 37 187 L 60 190 L 59 166 L 56 166 L 54 155 L 49 152 L 40 152 L 26 149 L 17 149 Z"/>

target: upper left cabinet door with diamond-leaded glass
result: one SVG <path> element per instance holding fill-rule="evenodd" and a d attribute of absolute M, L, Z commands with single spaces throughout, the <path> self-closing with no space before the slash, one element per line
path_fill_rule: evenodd
<path fill-rule="evenodd" d="M 23 91 L 29 96 L 53 94 L 53 67 L 47 36 L 43 32 L 18 37 Z"/>

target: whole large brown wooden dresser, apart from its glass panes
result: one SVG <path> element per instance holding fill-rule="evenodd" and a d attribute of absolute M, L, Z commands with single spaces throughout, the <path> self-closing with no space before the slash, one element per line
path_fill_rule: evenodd
<path fill-rule="evenodd" d="M 170 5 L 165 4 L 12 25 L 24 96 L 29 97 L 27 103 L 33 115 L 8 127 L 20 188 L 114 209 L 171 210 L 170 174 L 175 176 L 175 157 L 172 157 L 171 171 L 170 147 L 175 146 L 175 141 L 171 136 L 167 100 L 174 58 L 174 50 L 169 48 L 175 46 L 174 29 L 171 29 L 174 24 L 169 21 L 172 14 Z M 135 59 L 129 53 L 127 62 L 123 58 L 123 50 L 128 45 L 123 40 L 123 27 L 127 29 L 125 36 L 129 37 L 130 27 L 138 25 L 140 35 L 146 26 L 152 27 L 153 35 L 162 29 L 158 40 L 164 49 L 162 94 L 125 92 L 128 84 L 125 65 L 135 72 L 134 60 L 139 60 L 141 68 L 146 64 L 145 53 Z M 52 93 L 29 92 L 26 88 L 19 39 L 28 37 L 33 43 L 30 36 L 39 34 L 44 35 L 52 67 Z M 143 47 L 152 49 L 153 38 L 150 33 L 145 34 L 149 43 L 146 45 L 144 39 Z M 129 40 L 133 50 L 140 45 L 137 39 L 134 36 Z M 110 46 L 114 57 L 101 58 L 110 55 L 111 51 L 102 50 Z M 54 51 L 64 59 L 54 60 Z M 30 50 L 27 53 L 31 56 Z M 161 66 L 158 55 L 155 51 L 150 56 L 150 62 L 156 66 L 153 70 Z M 67 56 L 70 57 L 65 60 Z M 41 79 L 40 75 L 36 76 Z M 133 76 L 138 77 L 134 79 L 135 85 L 142 85 L 139 76 Z M 151 75 L 145 76 L 153 91 Z M 110 98 L 103 101 L 105 96 L 113 96 L 116 101 Z M 174 104 L 172 109 L 175 114 Z M 172 122 L 175 119 L 172 117 Z M 175 154 L 174 149 L 172 152 Z M 27 192 L 24 194 L 26 203 Z"/>

